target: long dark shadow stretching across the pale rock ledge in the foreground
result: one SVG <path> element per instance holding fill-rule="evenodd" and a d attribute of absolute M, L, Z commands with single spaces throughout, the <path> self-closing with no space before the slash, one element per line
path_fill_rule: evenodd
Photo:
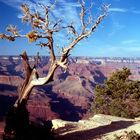
<path fill-rule="evenodd" d="M 133 123 L 133 121 L 116 121 L 109 125 L 99 126 L 90 130 L 66 134 L 65 136 L 58 137 L 57 140 L 93 140 L 104 134 L 127 128 L 133 125 Z"/>

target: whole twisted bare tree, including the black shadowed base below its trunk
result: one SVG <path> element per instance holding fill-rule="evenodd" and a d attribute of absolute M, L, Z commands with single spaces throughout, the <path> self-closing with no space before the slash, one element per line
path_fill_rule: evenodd
<path fill-rule="evenodd" d="M 51 6 L 43 7 L 45 16 L 42 17 L 41 14 L 38 11 L 36 11 L 36 9 L 33 10 L 35 12 L 32 12 L 32 10 L 30 10 L 30 8 L 26 4 L 22 4 L 22 19 L 23 21 L 31 24 L 32 30 L 27 34 L 22 35 L 17 30 L 16 26 L 10 25 L 7 28 L 7 31 L 11 33 L 10 35 L 0 33 L 0 39 L 6 39 L 8 41 L 15 41 L 16 38 L 26 37 L 28 38 L 29 42 L 32 43 L 41 39 L 38 45 L 40 45 L 41 47 L 48 47 L 51 60 L 51 65 L 48 74 L 45 77 L 39 77 L 36 66 L 31 68 L 26 52 L 24 52 L 21 55 L 25 69 L 25 81 L 21 90 L 19 91 L 18 99 L 7 114 L 5 126 L 5 139 L 8 136 L 11 136 L 12 138 L 14 136 L 24 134 L 24 132 L 26 132 L 25 128 L 29 126 L 29 114 L 26 109 L 26 105 L 28 98 L 31 94 L 32 88 L 34 86 L 44 85 L 51 82 L 53 80 L 53 75 L 57 67 L 60 66 L 64 70 L 67 70 L 68 57 L 70 55 L 70 51 L 81 40 L 91 35 L 95 31 L 97 26 L 100 24 L 100 22 L 107 15 L 109 5 L 104 5 L 102 7 L 103 13 L 100 14 L 100 16 L 98 16 L 96 20 L 93 20 L 90 16 L 87 16 L 85 18 L 88 11 L 91 10 L 92 5 L 89 8 L 85 8 L 84 0 L 80 0 L 79 3 L 81 6 L 81 12 L 79 17 L 81 21 L 81 30 L 76 29 L 72 22 L 70 23 L 70 25 L 63 27 L 60 26 L 62 21 L 61 19 L 57 21 L 52 21 L 51 16 L 49 16 L 49 12 L 52 8 Z M 68 46 L 62 47 L 60 58 L 56 58 L 53 44 L 53 33 L 57 34 L 63 29 L 70 31 L 69 37 L 71 38 L 71 40 Z M 45 39 L 45 43 L 42 42 L 43 39 Z"/>

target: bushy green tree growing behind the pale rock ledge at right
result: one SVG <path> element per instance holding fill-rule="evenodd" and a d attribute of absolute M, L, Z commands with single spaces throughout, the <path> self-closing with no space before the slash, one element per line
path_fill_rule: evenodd
<path fill-rule="evenodd" d="M 129 79 L 127 68 L 117 70 L 104 85 L 95 88 L 94 113 L 119 117 L 135 118 L 140 116 L 140 81 Z"/>

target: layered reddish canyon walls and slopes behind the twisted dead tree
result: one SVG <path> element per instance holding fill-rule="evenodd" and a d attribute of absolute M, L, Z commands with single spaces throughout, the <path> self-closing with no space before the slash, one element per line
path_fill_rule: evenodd
<path fill-rule="evenodd" d="M 61 118 L 64 120 L 78 121 L 88 116 L 90 103 L 93 100 L 94 87 L 97 83 L 103 84 L 106 77 L 117 68 L 128 66 L 132 70 L 132 79 L 138 75 L 137 63 L 109 62 L 95 63 L 91 58 L 71 58 L 69 71 L 56 70 L 54 82 L 33 89 L 28 102 L 30 118 L 44 120 Z M 30 63 L 33 65 L 33 59 Z M 105 61 L 105 60 L 104 60 Z M 47 65 L 46 65 L 47 63 Z M 49 59 L 42 58 L 38 71 L 40 75 L 47 74 Z M 0 98 L 7 97 L 3 106 L 13 103 L 18 95 L 24 79 L 24 70 L 19 57 L 0 57 Z M 3 108 L 3 107 L 2 107 Z M 7 107 L 6 107 L 7 109 Z M 6 109 L 4 110 L 6 112 Z"/>

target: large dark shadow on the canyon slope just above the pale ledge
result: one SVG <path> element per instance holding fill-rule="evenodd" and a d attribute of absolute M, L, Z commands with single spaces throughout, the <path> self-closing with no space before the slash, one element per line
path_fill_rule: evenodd
<path fill-rule="evenodd" d="M 86 109 L 80 106 L 75 106 L 65 97 L 60 97 L 59 94 L 53 92 L 52 85 L 41 87 L 44 92 L 49 93 L 47 96 L 51 99 L 50 107 L 55 113 L 58 113 L 60 119 L 66 121 L 78 121 L 82 115 L 87 112 Z"/>

